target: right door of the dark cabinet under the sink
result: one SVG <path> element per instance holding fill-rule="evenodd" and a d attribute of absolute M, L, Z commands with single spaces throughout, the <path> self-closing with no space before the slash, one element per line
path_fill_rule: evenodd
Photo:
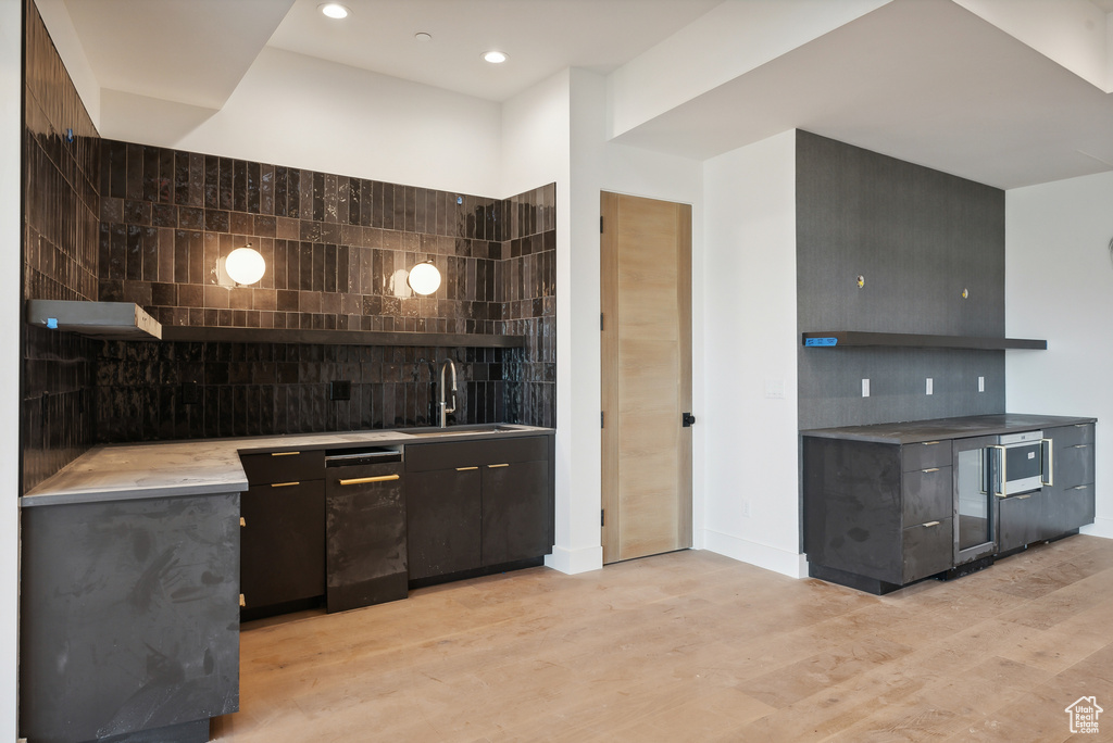
<path fill-rule="evenodd" d="M 498 565 L 552 552 L 549 463 L 484 465 L 483 564 Z"/>

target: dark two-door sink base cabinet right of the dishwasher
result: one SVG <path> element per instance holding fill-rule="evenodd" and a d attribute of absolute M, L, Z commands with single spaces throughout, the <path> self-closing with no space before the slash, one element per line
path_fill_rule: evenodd
<path fill-rule="evenodd" d="M 411 579 L 551 552 L 551 436 L 406 446 Z"/>

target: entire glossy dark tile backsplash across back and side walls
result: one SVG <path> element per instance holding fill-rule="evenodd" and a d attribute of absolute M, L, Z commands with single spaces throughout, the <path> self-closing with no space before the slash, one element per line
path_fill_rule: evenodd
<path fill-rule="evenodd" d="M 97 341 L 26 329 L 23 492 L 97 443 L 432 422 L 555 424 L 555 186 L 487 199 L 101 140 L 28 7 L 24 297 L 135 301 L 164 325 L 526 336 L 524 348 Z M 72 129 L 75 141 L 63 136 Z M 252 242 L 252 288 L 217 284 Z M 444 276 L 404 296 L 414 264 Z M 333 399 L 332 382 L 349 382 Z"/>

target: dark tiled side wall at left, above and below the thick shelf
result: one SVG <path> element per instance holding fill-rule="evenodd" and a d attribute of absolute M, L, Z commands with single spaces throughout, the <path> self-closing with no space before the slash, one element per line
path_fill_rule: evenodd
<path fill-rule="evenodd" d="M 24 34 L 22 296 L 96 299 L 99 138 L 31 0 Z M 23 326 L 24 491 L 95 444 L 92 345 Z"/>

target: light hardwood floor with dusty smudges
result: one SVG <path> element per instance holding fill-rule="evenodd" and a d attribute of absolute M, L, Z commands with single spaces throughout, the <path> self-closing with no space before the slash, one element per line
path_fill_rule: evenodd
<path fill-rule="evenodd" d="M 871 596 L 708 552 L 425 588 L 242 634 L 242 712 L 285 741 L 1113 740 L 1113 541 Z"/>

